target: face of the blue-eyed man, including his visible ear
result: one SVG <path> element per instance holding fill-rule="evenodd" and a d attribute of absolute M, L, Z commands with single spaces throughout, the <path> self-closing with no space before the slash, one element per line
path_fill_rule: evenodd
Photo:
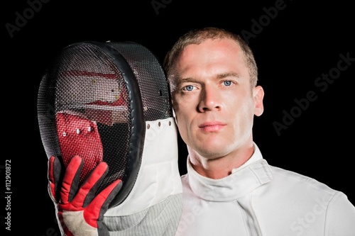
<path fill-rule="evenodd" d="M 177 72 L 173 107 L 187 146 L 209 159 L 250 146 L 253 116 L 263 113 L 263 89 L 251 89 L 239 45 L 227 39 L 188 45 Z"/>

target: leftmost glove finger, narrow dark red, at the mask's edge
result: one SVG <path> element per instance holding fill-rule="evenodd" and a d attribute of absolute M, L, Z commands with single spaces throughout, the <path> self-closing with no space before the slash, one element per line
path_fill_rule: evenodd
<path fill-rule="evenodd" d="M 58 185 L 62 172 L 62 166 L 57 157 L 48 159 L 48 191 L 53 201 L 58 201 Z"/>

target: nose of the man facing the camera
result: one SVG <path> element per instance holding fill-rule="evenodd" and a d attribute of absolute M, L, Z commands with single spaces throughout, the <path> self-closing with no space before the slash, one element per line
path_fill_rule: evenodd
<path fill-rule="evenodd" d="M 200 103 L 198 110 L 204 111 L 219 111 L 222 109 L 222 96 L 221 91 L 212 85 L 204 86 L 200 94 Z"/>

